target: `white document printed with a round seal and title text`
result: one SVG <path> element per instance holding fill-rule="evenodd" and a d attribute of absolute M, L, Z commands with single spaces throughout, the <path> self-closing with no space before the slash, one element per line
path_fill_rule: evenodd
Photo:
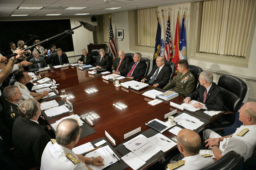
<path fill-rule="evenodd" d="M 140 157 L 143 161 L 148 161 L 151 157 L 161 151 L 142 134 L 124 143 L 123 145 L 135 155 Z"/>

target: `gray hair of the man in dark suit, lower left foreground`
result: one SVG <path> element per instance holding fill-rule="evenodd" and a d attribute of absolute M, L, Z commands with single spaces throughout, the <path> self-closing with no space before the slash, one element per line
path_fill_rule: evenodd
<path fill-rule="evenodd" d="M 18 106 L 18 113 L 22 118 L 31 119 L 40 111 L 35 98 L 27 99 L 21 102 Z"/>

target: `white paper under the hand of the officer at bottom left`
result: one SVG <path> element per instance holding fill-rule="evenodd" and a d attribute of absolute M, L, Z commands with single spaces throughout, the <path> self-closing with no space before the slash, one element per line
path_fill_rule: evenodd
<path fill-rule="evenodd" d="M 113 154 L 115 155 L 115 157 L 113 156 Z M 104 166 L 96 167 L 94 165 L 87 164 L 92 170 L 102 170 L 118 161 L 116 154 L 112 151 L 112 149 L 108 145 L 98 148 L 93 152 L 90 152 L 85 155 L 85 157 L 88 157 L 88 158 L 90 157 L 96 158 L 97 156 L 101 156 L 104 159 L 103 161 Z"/>

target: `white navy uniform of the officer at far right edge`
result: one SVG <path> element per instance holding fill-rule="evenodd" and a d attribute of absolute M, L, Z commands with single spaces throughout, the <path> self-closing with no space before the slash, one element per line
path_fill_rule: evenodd
<path fill-rule="evenodd" d="M 237 136 L 239 132 L 244 129 L 249 129 L 247 133 L 243 136 Z M 229 138 L 224 138 L 223 141 L 220 142 L 219 149 L 222 152 L 222 156 L 227 154 L 230 151 L 235 151 L 236 153 L 240 154 L 244 157 L 244 160 L 248 160 L 254 154 L 254 148 L 256 147 L 256 124 L 254 125 L 247 125 L 247 126 L 240 126 L 237 128 L 236 132 L 232 134 Z M 203 132 L 204 139 L 211 138 L 218 138 L 222 137 L 216 132 L 206 129 Z M 200 150 L 200 154 L 211 154 L 213 155 L 211 150 Z"/>

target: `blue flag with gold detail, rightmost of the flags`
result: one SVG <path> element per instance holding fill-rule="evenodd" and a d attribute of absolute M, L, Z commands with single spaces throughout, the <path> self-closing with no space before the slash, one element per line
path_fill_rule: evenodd
<path fill-rule="evenodd" d="M 185 14 L 182 18 L 182 24 L 180 29 L 180 41 L 179 41 L 179 58 L 187 59 L 187 48 L 186 48 L 186 35 L 185 35 L 185 26 L 184 26 Z"/>

